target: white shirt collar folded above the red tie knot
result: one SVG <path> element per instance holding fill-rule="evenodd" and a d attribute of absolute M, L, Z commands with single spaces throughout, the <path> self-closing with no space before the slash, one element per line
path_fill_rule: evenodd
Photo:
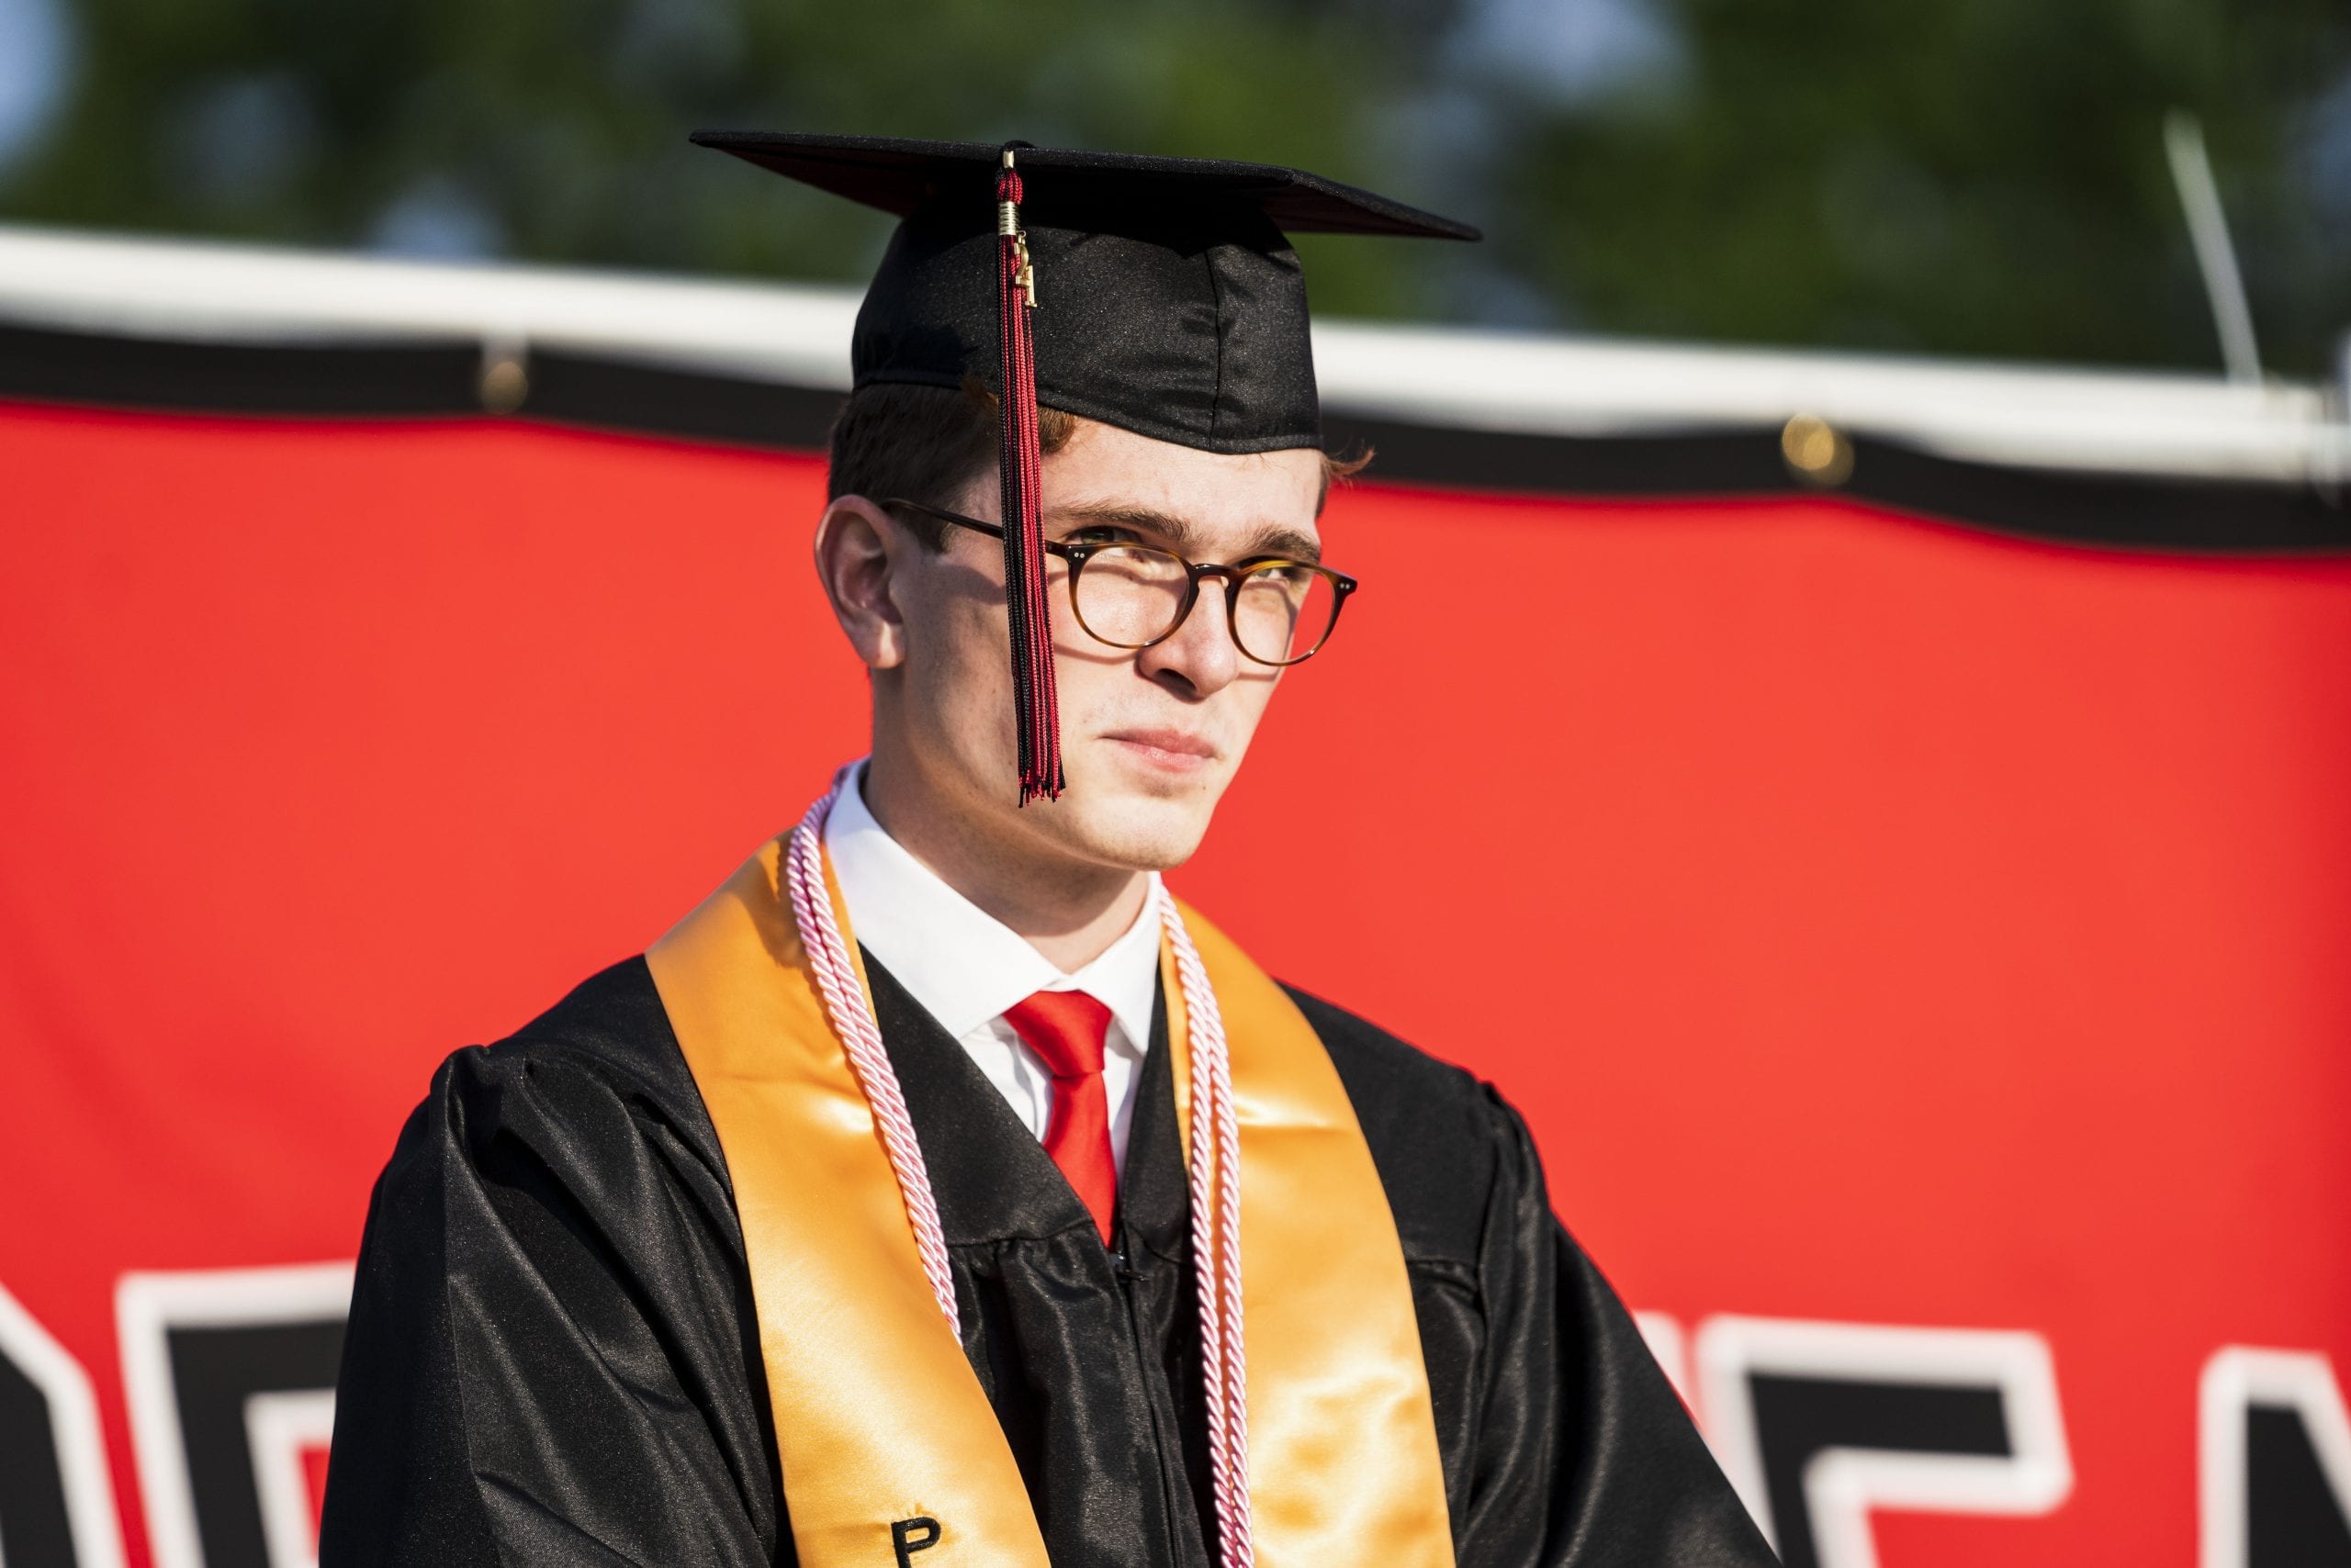
<path fill-rule="evenodd" d="M 910 856 L 865 809 L 865 769 L 832 802 L 825 853 L 856 940 L 955 1039 L 1041 990 L 1081 990 L 1110 1009 L 1110 1046 L 1140 1058 L 1159 1001 L 1159 877 L 1126 933 L 1074 976 Z M 1124 1039 L 1121 1039 L 1124 1034 Z"/>

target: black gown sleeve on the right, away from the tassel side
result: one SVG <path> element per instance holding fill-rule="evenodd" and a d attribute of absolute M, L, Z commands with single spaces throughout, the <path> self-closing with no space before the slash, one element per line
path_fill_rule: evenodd
<path fill-rule="evenodd" d="M 1554 1218 L 1526 1124 L 1486 1093 L 1491 1338 L 1460 1568 L 1770 1568 L 1632 1314 Z"/>

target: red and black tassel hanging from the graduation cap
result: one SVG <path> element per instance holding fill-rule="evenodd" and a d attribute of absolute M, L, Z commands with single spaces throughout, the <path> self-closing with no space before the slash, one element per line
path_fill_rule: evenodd
<path fill-rule="evenodd" d="M 1004 503 L 1004 599 L 1011 611 L 1013 722 L 1020 733 L 1020 804 L 1060 799 L 1060 703 L 1053 691 L 1053 614 L 1044 590 L 1044 524 L 1037 512 L 1044 456 L 1037 449 L 1037 350 L 1030 310 L 1037 282 L 1020 233 L 1020 176 L 1004 148 L 997 172 L 997 341 L 1004 440 L 997 456 Z"/>

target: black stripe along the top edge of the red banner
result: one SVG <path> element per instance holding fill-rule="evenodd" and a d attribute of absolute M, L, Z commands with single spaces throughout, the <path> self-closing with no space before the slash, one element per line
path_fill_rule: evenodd
<path fill-rule="evenodd" d="M 823 451 L 839 393 L 534 348 L 522 416 L 632 435 Z M 186 343 L 0 327 L 0 397 L 270 416 L 484 416 L 482 348 L 447 343 Z M 2081 545 L 2344 552 L 2351 501 L 2313 484 L 2067 473 L 1853 440 L 1822 491 L 1789 470 L 1780 430 L 1519 435 L 1326 416 L 1333 451 L 1371 447 L 1371 480 L 1542 496 L 1843 494 L 1961 527 Z"/>

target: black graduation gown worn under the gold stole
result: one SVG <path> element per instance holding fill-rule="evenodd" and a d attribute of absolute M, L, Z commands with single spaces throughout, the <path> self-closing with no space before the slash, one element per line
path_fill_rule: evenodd
<path fill-rule="evenodd" d="M 1105 1248 L 962 1046 L 865 961 L 964 1352 L 1056 1568 L 1206 1568 L 1164 999 Z M 1516 1112 L 1293 997 L 1404 1239 L 1462 1568 L 1770 1563 L 1625 1307 L 1552 1218 Z M 792 1561 L 726 1164 L 651 971 L 630 959 L 513 1039 L 451 1056 L 402 1131 L 360 1246 L 320 1563 Z"/>

